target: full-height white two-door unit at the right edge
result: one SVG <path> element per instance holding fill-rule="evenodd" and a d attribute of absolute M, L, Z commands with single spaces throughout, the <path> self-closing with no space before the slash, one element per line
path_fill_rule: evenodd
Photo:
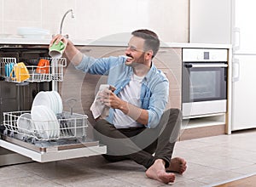
<path fill-rule="evenodd" d="M 256 79 L 256 48 L 254 18 L 256 2 L 232 1 L 232 112 L 231 131 L 255 128 L 255 94 L 252 83 Z"/>

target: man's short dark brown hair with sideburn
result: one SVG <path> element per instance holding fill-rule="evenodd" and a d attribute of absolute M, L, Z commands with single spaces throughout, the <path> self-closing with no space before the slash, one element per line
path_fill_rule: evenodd
<path fill-rule="evenodd" d="M 152 50 L 153 51 L 152 58 L 154 58 L 155 54 L 157 54 L 160 48 L 160 40 L 157 34 L 155 34 L 154 31 L 149 31 L 147 29 L 133 31 L 131 32 L 131 34 L 134 37 L 141 37 L 145 40 L 144 51 Z"/>

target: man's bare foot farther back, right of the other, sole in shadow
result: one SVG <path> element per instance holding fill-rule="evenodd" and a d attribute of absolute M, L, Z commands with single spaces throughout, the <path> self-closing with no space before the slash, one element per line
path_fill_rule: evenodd
<path fill-rule="evenodd" d="M 170 166 L 166 168 L 166 172 L 184 173 L 187 169 L 187 162 L 180 157 L 172 158 Z"/>

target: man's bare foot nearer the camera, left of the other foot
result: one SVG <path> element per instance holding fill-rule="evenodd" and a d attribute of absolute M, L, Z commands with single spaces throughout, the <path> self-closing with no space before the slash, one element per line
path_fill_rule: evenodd
<path fill-rule="evenodd" d="M 146 171 L 148 178 L 153 178 L 162 183 L 173 183 L 175 175 L 173 173 L 166 173 L 165 161 L 157 159 L 154 164 Z"/>

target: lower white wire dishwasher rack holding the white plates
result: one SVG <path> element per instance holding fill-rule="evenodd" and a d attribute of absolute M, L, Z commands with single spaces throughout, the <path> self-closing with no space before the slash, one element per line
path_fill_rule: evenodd
<path fill-rule="evenodd" d="M 31 111 L 3 112 L 3 135 L 28 142 L 58 139 L 85 139 L 88 116 L 63 111 L 56 115 L 56 121 L 33 121 Z M 25 115 L 25 116 L 24 116 Z M 20 121 L 21 120 L 21 121 Z M 21 124 L 19 124 L 21 123 Z"/>

